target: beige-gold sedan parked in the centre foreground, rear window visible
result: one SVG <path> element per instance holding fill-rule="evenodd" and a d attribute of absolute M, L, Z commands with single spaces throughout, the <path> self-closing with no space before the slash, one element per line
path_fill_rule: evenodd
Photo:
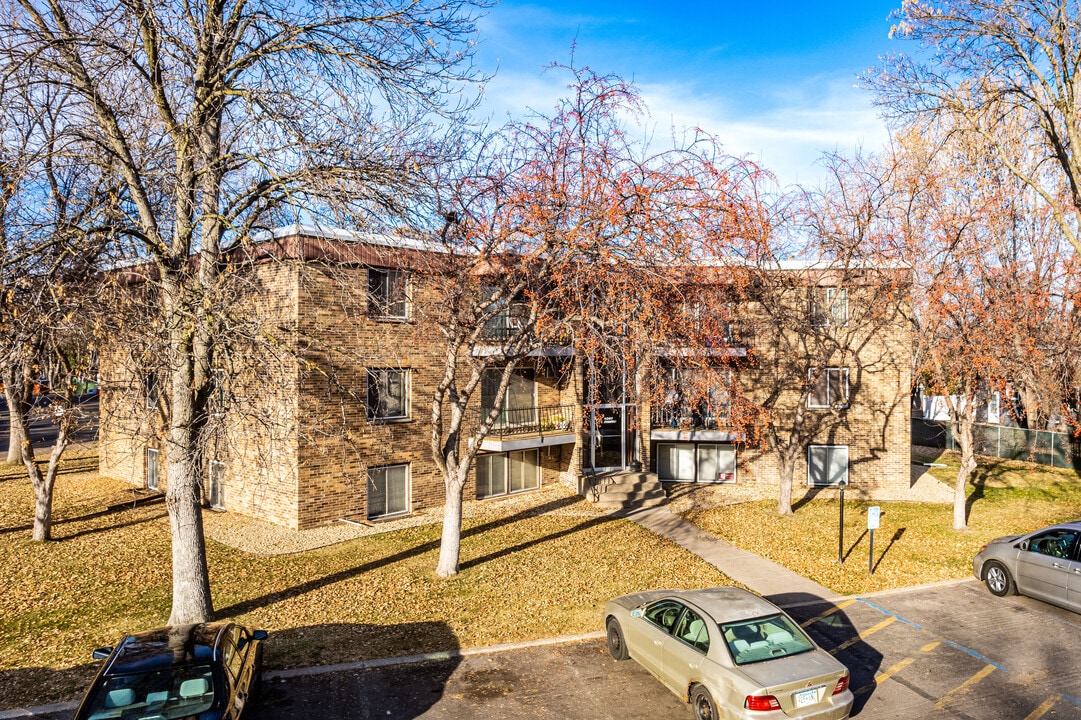
<path fill-rule="evenodd" d="M 698 720 L 839 720 L 852 710 L 849 669 L 746 590 L 625 595 L 605 603 L 604 622 L 612 657 L 633 657 Z"/>

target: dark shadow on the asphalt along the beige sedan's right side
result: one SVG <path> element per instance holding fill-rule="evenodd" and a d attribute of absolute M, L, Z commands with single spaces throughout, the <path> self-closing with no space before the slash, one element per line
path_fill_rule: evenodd
<path fill-rule="evenodd" d="M 792 617 L 833 657 L 849 668 L 849 689 L 854 702 L 852 715 L 859 715 L 867 701 L 875 694 L 875 676 L 882 666 L 882 653 L 859 639 L 859 630 L 844 611 L 833 603 L 805 592 L 785 597 L 785 604 Z"/>

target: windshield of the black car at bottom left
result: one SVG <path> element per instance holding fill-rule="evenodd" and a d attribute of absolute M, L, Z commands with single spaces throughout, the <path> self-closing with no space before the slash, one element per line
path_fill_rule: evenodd
<path fill-rule="evenodd" d="M 199 715 L 213 704 L 214 674 L 210 665 L 174 665 L 106 678 L 82 717 L 169 720 Z"/>

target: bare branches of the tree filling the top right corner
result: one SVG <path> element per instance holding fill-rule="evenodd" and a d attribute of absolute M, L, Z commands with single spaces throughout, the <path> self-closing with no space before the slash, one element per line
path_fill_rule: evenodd
<path fill-rule="evenodd" d="M 864 82 L 902 124 L 972 136 L 1051 210 L 1081 252 L 1081 13 L 1054 0 L 905 0 L 895 36 L 922 45 Z"/>

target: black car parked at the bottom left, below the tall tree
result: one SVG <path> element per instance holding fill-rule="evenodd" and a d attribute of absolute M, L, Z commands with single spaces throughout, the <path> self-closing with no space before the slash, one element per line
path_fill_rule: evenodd
<path fill-rule="evenodd" d="M 105 665 L 76 720 L 236 720 L 258 693 L 265 630 L 233 623 L 176 625 L 98 648 Z"/>

